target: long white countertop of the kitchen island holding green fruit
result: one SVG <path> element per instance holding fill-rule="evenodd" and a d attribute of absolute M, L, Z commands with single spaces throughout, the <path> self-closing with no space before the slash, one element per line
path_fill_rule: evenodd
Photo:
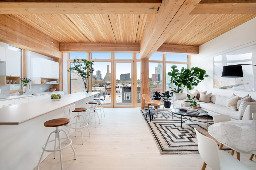
<path fill-rule="evenodd" d="M 0 108 L 0 125 L 18 125 L 96 94 L 98 93 L 73 93 L 63 95 L 60 101 L 43 99 L 34 102 L 3 107 Z"/>

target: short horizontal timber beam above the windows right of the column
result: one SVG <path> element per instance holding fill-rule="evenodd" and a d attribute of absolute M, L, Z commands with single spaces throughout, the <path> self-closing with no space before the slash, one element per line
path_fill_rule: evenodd
<path fill-rule="evenodd" d="M 177 45 L 177 44 L 162 44 L 157 52 L 177 52 L 187 54 L 198 54 L 198 46 L 192 45 Z"/>

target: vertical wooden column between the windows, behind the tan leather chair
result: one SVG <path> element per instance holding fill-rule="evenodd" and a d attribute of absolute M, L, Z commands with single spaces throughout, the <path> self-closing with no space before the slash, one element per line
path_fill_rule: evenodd
<path fill-rule="evenodd" d="M 149 94 L 149 59 L 141 59 L 141 109 L 146 107 L 145 102 L 142 98 L 143 94 Z"/>

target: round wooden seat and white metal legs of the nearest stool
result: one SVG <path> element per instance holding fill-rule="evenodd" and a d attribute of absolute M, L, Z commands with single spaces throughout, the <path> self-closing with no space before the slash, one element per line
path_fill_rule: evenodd
<path fill-rule="evenodd" d="M 39 159 L 39 162 L 38 162 L 38 165 L 37 165 L 37 170 L 39 170 L 39 165 L 40 165 L 40 163 L 41 163 L 41 159 L 42 159 L 42 157 L 43 157 L 44 151 L 46 151 L 46 152 L 54 152 L 54 159 L 55 159 L 55 151 L 60 151 L 60 165 L 61 165 L 61 170 L 63 169 L 63 165 L 62 165 L 62 156 L 61 156 L 61 150 L 62 150 L 62 149 L 65 149 L 66 147 L 68 147 L 68 146 L 70 145 L 70 146 L 72 147 L 72 149 L 73 149 L 74 156 L 75 156 L 75 160 L 76 160 L 76 152 L 75 152 L 75 150 L 74 150 L 74 148 L 73 148 L 73 146 L 72 146 L 72 140 L 68 137 L 68 134 L 67 134 L 67 132 L 66 132 L 65 130 L 59 129 L 59 126 L 63 126 L 63 125 L 65 126 L 65 125 L 67 125 L 69 122 L 70 122 L 69 119 L 62 118 L 62 119 L 52 119 L 52 120 L 46 121 L 46 122 L 44 123 L 44 126 L 45 126 L 45 127 L 56 127 L 56 130 L 54 130 L 53 132 L 51 132 L 51 133 L 49 134 L 46 143 L 45 143 L 45 144 L 43 145 L 43 147 L 42 147 L 42 148 L 43 148 L 43 152 L 42 152 L 42 155 L 41 155 L 41 157 L 40 157 L 40 159 Z M 60 138 L 60 131 L 64 131 L 64 133 L 65 133 L 65 135 L 66 135 L 67 138 Z M 55 133 L 55 140 L 50 140 L 50 141 L 49 141 L 50 136 L 51 136 L 52 133 Z M 57 138 L 57 137 L 58 137 L 58 140 L 59 140 L 59 149 L 56 149 L 56 138 Z M 69 144 L 68 144 L 67 146 L 65 146 L 65 147 L 62 148 L 61 145 L 60 145 L 60 140 L 61 140 L 61 139 L 66 139 L 66 140 L 68 140 L 68 141 L 69 141 Z M 53 141 L 54 141 L 54 149 L 53 149 L 53 150 L 46 149 L 47 144 L 50 143 L 50 142 L 53 142 Z"/>

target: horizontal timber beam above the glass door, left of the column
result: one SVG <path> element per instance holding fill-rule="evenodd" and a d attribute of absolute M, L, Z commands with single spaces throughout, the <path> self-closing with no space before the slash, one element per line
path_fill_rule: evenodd
<path fill-rule="evenodd" d="M 60 42 L 62 52 L 139 52 L 136 42 Z"/>

